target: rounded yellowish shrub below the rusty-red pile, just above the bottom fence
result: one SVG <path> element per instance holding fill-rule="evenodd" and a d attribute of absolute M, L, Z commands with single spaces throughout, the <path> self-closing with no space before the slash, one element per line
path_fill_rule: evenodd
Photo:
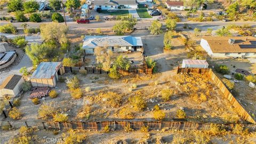
<path fill-rule="evenodd" d="M 55 111 L 56 109 L 54 108 L 53 103 L 44 102 L 43 105 L 38 108 L 38 115 L 43 119 L 47 119 L 48 117 L 53 116 Z"/>

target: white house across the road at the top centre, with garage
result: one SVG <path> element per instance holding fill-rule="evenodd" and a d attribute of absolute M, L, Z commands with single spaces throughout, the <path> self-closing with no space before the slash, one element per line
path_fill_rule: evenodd
<path fill-rule="evenodd" d="M 94 10 L 101 8 L 102 10 L 108 10 L 110 8 L 115 9 L 137 9 L 138 3 L 135 0 L 95 0 Z"/>

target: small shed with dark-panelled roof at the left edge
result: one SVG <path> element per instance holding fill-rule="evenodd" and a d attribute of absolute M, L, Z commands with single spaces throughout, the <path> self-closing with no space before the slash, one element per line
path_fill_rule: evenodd
<path fill-rule="evenodd" d="M 18 96 L 22 91 L 22 83 L 24 83 L 24 79 L 20 75 L 10 75 L 6 77 L 0 86 L 0 97 Z"/>

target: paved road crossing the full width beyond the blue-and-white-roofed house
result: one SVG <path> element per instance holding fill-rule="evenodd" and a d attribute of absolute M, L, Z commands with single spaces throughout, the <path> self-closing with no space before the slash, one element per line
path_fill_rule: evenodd
<path fill-rule="evenodd" d="M 69 26 L 69 29 L 73 29 L 73 28 L 90 28 L 90 29 L 94 29 L 94 28 L 112 28 L 115 23 L 117 21 L 91 21 L 91 23 L 89 24 L 77 24 L 74 21 L 71 22 L 67 22 L 67 25 Z M 0 25 L 4 25 L 6 23 L 9 22 L 1 22 Z M 13 22 L 13 25 L 21 28 L 20 25 L 23 22 Z M 35 23 L 35 22 L 27 22 L 28 25 L 30 27 L 38 27 L 39 25 L 43 24 L 43 23 L 51 23 L 51 22 L 40 22 L 40 23 Z M 137 22 L 137 27 L 145 27 L 145 26 L 150 26 L 152 23 L 152 21 L 138 21 Z M 164 22 L 162 22 L 164 25 Z M 198 27 L 202 30 L 206 30 L 207 28 L 212 28 L 213 30 L 219 29 L 222 26 L 228 26 L 231 24 L 235 24 L 235 25 L 252 25 L 253 27 L 256 27 L 256 22 L 255 21 L 241 21 L 241 22 L 223 22 L 223 21 L 211 21 L 211 22 L 193 22 L 193 21 L 182 21 L 182 22 L 178 22 L 177 23 L 177 28 L 182 28 L 184 23 L 188 23 L 189 26 L 191 27 Z M 64 23 L 63 23 L 64 25 Z"/>

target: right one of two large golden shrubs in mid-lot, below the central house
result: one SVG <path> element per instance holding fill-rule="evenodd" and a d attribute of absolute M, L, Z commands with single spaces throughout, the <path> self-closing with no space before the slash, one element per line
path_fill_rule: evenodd
<path fill-rule="evenodd" d="M 135 95 L 134 97 L 130 97 L 129 102 L 131 103 L 133 108 L 138 111 L 143 110 L 147 106 L 146 101 L 141 97 L 141 95 Z"/>

